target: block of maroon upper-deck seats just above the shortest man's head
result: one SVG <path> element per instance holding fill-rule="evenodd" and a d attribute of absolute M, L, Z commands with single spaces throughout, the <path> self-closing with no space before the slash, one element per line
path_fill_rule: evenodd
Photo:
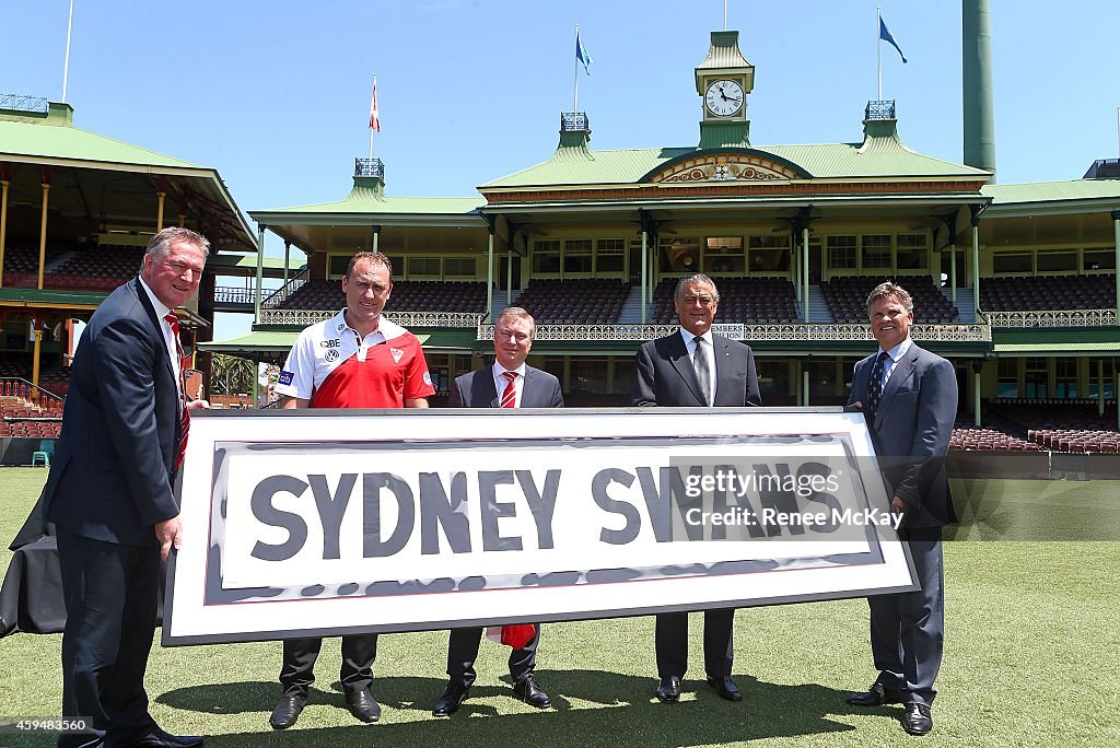
<path fill-rule="evenodd" d="M 628 296 L 628 286 L 608 278 L 533 279 L 514 305 L 541 324 L 612 325 Z"/>

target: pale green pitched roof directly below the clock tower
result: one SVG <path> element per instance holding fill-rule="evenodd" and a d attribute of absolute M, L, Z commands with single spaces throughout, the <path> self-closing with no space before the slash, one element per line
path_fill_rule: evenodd
<path fill-rule="evenodd" d="M 719 149 L 712 149 L 716 152 Z M 864 143 L 756 146 L 752 150 L 793 161 L 816 179 L 876 177 L 976 177 L 982 169 L 953 163 L 911 150 L 897 135 L 868 138 Z M 659 166 L 696 148 L 646 148 L 596 151 L 560 148 L 536 166 L 488 181 L 479 189 L 554 185 L 617 185 L 637 183 Z"/>

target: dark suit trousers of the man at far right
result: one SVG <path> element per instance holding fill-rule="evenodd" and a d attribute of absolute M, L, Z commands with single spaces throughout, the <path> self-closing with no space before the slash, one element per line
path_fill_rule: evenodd
<path fill-rule="evenodd" d="M 945 605 L 941 527 L 900 533 L 909 545 L 922 589 L 868 598 L 871 607 L 871 655 L 877 683 L 900 691 L 904 701 L 933 704 L 933 681 L 944 651 Z"/>

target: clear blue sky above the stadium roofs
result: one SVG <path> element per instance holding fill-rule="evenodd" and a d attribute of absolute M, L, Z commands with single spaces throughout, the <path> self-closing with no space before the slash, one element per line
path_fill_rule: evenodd
<path fill-rule="evenodd" d="M 921 152 L 961 160 L 956 1 L 879 0 L 884 97 Z M 850 142 L 876 97 L 876 3 L 729 0 L 755 65 L 752 142 Z M 1118 156 L 1116 0 L 991 0 L 1001 183 L 1077 178 Z M 0 6 L 0 92 L 62 96 L 67 0 Z M 693 68 L 722 0 L 75 0 L 75 123 L 216 168 L 244 211 L 337 199 L 368 151 L 377 74 L 392 195 L 473 195 L 548 158 L 572 105 L 573 26 L 591 147 L 691 146 Z M 269 254 L 282 255 L 270 241 Z M 248 329 L 222 320 L 218 337 Z"/>

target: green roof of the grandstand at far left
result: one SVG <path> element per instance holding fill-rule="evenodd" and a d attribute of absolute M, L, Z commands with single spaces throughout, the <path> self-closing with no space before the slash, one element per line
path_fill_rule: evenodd
<path fill-rule="evenodd" d="M 65 159 L 168 169 L 200 169 L 188 161 L 75 128 L 68 104 L 50 104 L 47 113 L 0 110 L 0 159 Z"/>

